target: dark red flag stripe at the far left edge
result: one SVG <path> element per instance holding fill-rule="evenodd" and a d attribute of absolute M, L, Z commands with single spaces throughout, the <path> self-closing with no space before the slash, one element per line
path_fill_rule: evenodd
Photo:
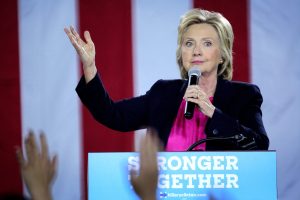
<path fill-rule="evenodd" d="M 21 144 L 20 75 L 17 1 L 2 2 L 0 10 L 0 193 L 22 193 L 16 161 L 16 145 Z"/>

